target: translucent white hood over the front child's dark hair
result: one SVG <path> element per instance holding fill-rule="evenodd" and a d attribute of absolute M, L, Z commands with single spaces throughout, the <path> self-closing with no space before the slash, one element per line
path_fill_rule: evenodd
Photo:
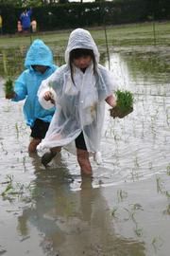
<path fill-rule="evenodd" d="M 76 28 L 72 31 L 69 37 L 68 45 L 65 51 L 65 62 L 69 63 L 70 52 L 73 49 L 85 48 L 93 50 L 96 63 L 99 62 L 100 54 L 98 48 L 95 45 L 93 38 L 88 30 L 82 28 Z"/>

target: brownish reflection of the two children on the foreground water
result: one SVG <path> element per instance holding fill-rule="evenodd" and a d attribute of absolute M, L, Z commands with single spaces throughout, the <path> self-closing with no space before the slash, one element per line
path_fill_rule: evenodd
<path fill-rule="evenodd" d="M 18 217 L 20 235 L 29 234 L 29 225 L 36 227 L 47 255 L 144 255 L 143 243 L 114 233 L 107 201 L 100 189 L 93 189 L 91 178 L 82 177 L 81 190 L 72 192 L 72 178 L 63 163 L 59 172 L 42 172 L 36 159 L 33 164 L 33 204 Z"/>

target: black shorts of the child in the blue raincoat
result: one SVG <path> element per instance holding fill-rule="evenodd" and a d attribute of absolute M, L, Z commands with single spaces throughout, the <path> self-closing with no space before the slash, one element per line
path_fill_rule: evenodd
<path fill-rule="evenodd" d="M 48 130 L 50 122 L 43 121 L 42 119 L 36 119 L 34 125 L 31 128 L 31 137 L 44 138 Z"/>

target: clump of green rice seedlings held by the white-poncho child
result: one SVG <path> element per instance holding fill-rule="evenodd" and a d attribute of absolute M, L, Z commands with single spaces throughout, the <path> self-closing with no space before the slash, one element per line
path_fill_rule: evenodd
<path fill-rule="evenodd" d="M 112 118 L 125 118 L 133 111 L 133 95 L 129 91 L 115 91 L 117 104 L 110 109 L 110 116 Z"/>

